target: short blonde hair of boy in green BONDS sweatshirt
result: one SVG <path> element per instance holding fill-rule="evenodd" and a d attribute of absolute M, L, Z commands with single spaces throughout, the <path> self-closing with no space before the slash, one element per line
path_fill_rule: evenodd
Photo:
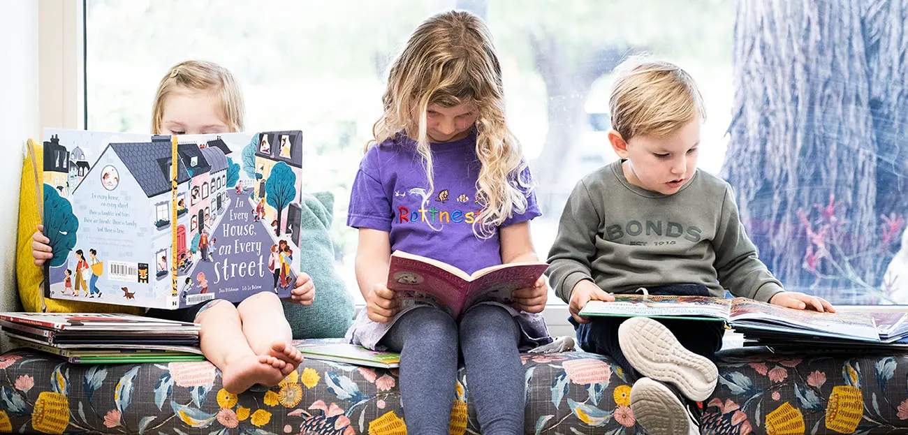
<path fill-rule="evenodd" d="M 612 128 L 634 136 L 664 138 L 696 117 L 706 120 L 703 96 L 694 78 L 676 64 L 633 56 L 615 68 L 608 100 Z"/>

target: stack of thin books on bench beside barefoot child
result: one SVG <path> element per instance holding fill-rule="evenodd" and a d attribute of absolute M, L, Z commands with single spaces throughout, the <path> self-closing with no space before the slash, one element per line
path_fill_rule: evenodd
<path fill-rule="evenodd" d="M 0 312 L 14 347 L 72 363 L 204 361 L 199 325 L 131 314 Z"/>

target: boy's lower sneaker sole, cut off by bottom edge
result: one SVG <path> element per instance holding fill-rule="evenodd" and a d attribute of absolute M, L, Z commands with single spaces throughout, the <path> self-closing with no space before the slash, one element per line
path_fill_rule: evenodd
<path fill-rule="evenodd" d="M 630 409 L 649 435 L 690 433 L 687 411 L 675 393 L 657 382 L 641 378 L 630 389 Z"/>

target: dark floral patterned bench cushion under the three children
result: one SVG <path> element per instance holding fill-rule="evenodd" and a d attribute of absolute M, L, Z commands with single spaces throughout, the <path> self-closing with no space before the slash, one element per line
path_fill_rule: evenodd
<path fill-rule="evenodd" d="M 524 355 L 526 432 L 643 433 L 609 359 Z M 396 370 L 306 360 L 281 385 L 239 397 L 205 362 L 73 365 L 0 356 L 0 432 L 403 434 Z M 908 355 L 779 357 L 725 352 L 704 433 L 908 433 Z M 459 374 L 451 433 L 478 433 Z"/>

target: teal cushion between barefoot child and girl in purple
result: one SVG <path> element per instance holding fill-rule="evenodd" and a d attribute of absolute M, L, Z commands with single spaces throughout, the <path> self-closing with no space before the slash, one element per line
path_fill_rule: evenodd
<path fill-rule="evenodd" d="M 300 225 L 300 270 L 315 283 L 315 302 L 304 307 L 283 302 L 294 339 L 343 337 L 353 321 L 353 298 L 334 269 L 331 219 L 334 196 L 330 192 L 303 193 Z"/>

